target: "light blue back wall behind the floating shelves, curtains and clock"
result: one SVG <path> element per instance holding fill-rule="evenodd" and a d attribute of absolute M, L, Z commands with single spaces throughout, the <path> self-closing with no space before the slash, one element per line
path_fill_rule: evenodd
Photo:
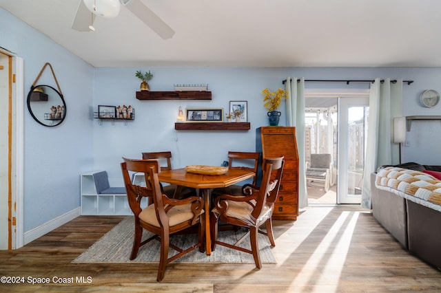
<path fill-rule="evenodd" d="M 151 70 L 152 91 L 173 91 L 174 84 L 208 84 L 211 101 L 136 100 L 140 80 L 136 70 Z M 121 156 L 141 158 L 143 151 L 170 150 L 172 165 L 176 168 L 188 164 L 220 165 L 228 150 L 254 151 L 255 129 L 267 125 L 266 109 L 260 91 L 265 87 L 283 87 L 287 76 L 306 79 L 373 79 L 376 77 L 414 80 L 404 84 L 404 115 L 441 115 L 441 104 L 434 109 L 418 103 L 424 89 L 441 91 L 438 80 L 440 68 L 236 68 L 236 67 L 144 67 L 97 68 L 94 83 L 94 111 L 98 105 L 132 105 L 136 118 L 124 126 L 94 123 L 94 166 L 105 169 L 111 177 L 120 176 Z M 307 83 L 307 89 L 369 89 L 369 83 Z M 248 101 L 250 131 L 175 131 L 178 107 L 229 107 L 229 100 Z M 285 103 L 280 107 L 280 124 L 286 124 Z M 422 126 L 428 129 L 422 129 Z M 408 133 L 410 146 L 403 147 L 403 162 L 441 164 L 441 150 L 433 142 L 441 143 L 441 122 L 416 122 Z M 424 150 L 424 151 L 422 151 Z M 434 160 L 435 158 L 435 160 Z"/>

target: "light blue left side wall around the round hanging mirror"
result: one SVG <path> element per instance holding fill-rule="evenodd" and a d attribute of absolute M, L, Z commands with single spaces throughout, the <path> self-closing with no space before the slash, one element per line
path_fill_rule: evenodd
<path fill-rule="evenodd" d="M 79 174 L 92 168 L 93 159 L 94 68 L 1 8 L 0 46 L 23 58 L 25 98 L 49 62 L 67 105 L 65 120 L 57 127 L 38 124 L 25 106 L 24 230 L 28 231 L 80 206 Z M 38 83 L 57 88 L 49 67 Z"/>

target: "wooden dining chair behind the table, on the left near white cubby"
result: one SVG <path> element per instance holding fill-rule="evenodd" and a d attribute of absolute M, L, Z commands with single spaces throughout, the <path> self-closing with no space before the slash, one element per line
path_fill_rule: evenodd
<path fill-rule="evenodd" d="M 142 153 L 143 160 L 150 160 L 150 159 L 156 159 L 161 164 L 161 161 L 164 161 L 167 163 L 161 164 L 161 171 L 165 170 L 172 170 L 172 152 L 171 151 L 156 151 L 156 152 L 149 152 L 149 153 Z M 163 186 L 161 184 L 161 188 L 163 193 L 168 195 L 170 198 L 185 198 L 189 196 L 196 196 L 196 189 L 186 187 L 186 186 L 177 186 L 176 184 L 169 184 L 166 186 Z"/>

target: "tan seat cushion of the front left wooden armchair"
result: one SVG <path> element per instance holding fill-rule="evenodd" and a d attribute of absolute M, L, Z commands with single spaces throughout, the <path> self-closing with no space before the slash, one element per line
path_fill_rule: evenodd
<path fill-rule="evenodd" d="M 172 227 L 185 221 L 189 221 L 193 218 L 193 215 L 194 214 L 192 212 L 192 203 L 184 204 L 182 206 L 174 206 L 173 208 L 170 208 L 167 213 L 169 226 Z M 150 206 L 147 206 L 147 208 L 144 208 L 143 211 L 139 214 L 139 219 L 152 226 L 160 227 L 158 219 L 156 218 L 154 204 L 151 204 Z"/>

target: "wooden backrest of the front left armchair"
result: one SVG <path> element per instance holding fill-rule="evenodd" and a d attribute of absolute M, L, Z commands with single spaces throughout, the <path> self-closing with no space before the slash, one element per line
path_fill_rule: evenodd
<path fill-rule="evenodd" d="M 156 190 L 154 189 L 154 182 L 151 180 L 149 172 L 151 168 L 158 172 L 161 167 L 157 160 L 132 160 L 127 158 L 123 158 L 123 160 L 124 162 L 121 163 L 121 171 L 123 172 L 125 190 L 127 191 L 127 201 L 135 217 L 138 217 L 142 211 L 139 205 L 142 197 L 152 197 L 153 202 L 156 202 L 154 198 Z M 144 173 L 146 187 L 132 184 L 129 172 Z M 159 194 L 161 194 L 161 191 L 159 191 Z"/>

